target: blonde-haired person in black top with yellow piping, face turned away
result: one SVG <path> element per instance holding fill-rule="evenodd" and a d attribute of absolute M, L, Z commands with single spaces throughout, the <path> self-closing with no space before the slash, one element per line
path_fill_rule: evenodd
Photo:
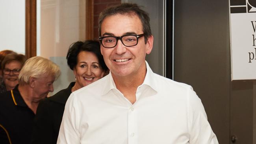
<path fill-rule="evenodd" d="M 37 56 L 26 61 L 19 84 L 0 96 L 1 144 L 30 143 L 38 103 L 54 90 L 53 82 L 59 75 L 59 66 L 48 59 Z"/>

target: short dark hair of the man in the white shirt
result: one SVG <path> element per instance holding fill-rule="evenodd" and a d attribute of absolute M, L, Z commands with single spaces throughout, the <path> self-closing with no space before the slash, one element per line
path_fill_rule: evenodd
<path fill-rule="evenodd" d="M 137 4 L 122 3 L 120 5 L 104 9 L 100 13 L 99 20 L 98 20 L 99 36 L 101 36 L 101 25 L 102 25 L 103 20 L 108 16 L 117 15 L 117 14 L 121 14 L 121 15 L 134 15 L 135 14 L 139 17 L 139 19 L 141 20 L 142 26 L 143 26 L 143 33 L 145 33 L 144 37 L 145 37 L 145 44 L 146 44 L 148 41 L 148 37 L 150 35 L 152 35 L 151 29 L 150 29 L 150 23 L 149 23 L 150 18 L 148 16 L 148 13 L 146 11 L 142 10 L 141 7 L 139 7 Z M 141 34 L 141 33 L 137 33 L 137 34 Z"/>

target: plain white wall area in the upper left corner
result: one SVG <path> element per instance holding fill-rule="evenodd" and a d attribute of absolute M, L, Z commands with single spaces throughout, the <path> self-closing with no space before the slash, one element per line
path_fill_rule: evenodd
<path fill-rule="evenodd" d="M 0 51 L 25 54 L 25 0 L 0 0 Z"/>

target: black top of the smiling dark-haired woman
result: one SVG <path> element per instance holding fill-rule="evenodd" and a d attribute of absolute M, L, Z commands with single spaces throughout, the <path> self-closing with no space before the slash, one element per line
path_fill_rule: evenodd
<path fill-rule="evenodd" d="M 54 96 L 42 100 L 35 115 L 32 144 L 56 144 L 65 104 L 75 82 L 67 89 L 60 90 Z"/>

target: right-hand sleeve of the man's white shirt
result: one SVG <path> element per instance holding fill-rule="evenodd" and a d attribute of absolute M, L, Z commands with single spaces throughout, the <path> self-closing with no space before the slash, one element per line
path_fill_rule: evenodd
<path fill-rule="evenodd" d="M 192 87 L 188 90 L 187 100 L 189 144 L 219 144 L 207 120 L 204 106 Z"/>

